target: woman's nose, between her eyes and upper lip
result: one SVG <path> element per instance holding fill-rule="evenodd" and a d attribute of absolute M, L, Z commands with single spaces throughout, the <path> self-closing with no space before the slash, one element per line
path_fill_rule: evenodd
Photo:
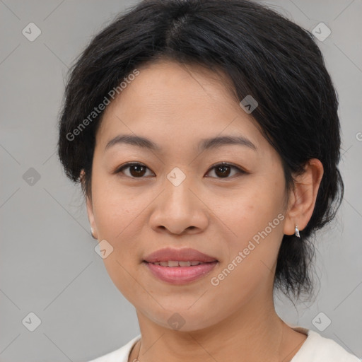
<path fill-rule="evenodd" d="M 168 230 L 173 234 L 200 233 L 209 223 L 206 200 L 197 192 L 191 177 L 180 185 L 165 180 L 165 189 L 155 200 L 151 214 L 151 228 L 160 232 Z"/>

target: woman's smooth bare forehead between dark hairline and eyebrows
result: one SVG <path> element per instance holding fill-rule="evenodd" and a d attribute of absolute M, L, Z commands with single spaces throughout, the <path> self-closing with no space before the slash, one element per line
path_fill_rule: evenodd
<path fill-rule="evenodd" d="M 198 65 L 167 60 L 138 68 L 103 114 L 98 143 L 117 133 L 170 139 L 180 145 L 216 135 L 241 134 L 259 144 L 257 123 L 230 91 L 228 78 Z"/>

